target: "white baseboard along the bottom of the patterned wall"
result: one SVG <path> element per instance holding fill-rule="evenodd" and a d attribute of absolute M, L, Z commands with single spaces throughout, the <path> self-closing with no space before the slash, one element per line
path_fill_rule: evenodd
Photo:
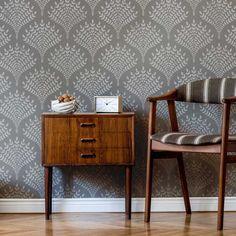
<path fill-rule="evenodd" d="M 144 198 L 132 199 L 132 212 L 144 211 Z M 216 211 L 216 197 L 193 197 L 192 211 Z M 53 212 L 124 212 L 124 198 L 53 199 Z M 184 211 L 183 198 L 153 198 L 154 212 Z M 236 197 L 226 197 L 226 211 L 236 211 Z M 42 213 L 44 199 L 0 199 L 0 213 Z"/>

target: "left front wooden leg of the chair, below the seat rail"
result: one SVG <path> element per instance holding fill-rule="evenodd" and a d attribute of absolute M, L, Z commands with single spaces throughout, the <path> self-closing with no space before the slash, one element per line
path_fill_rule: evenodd
<path fill-rule="evenodd" d="M 147 172 L 146 172 L 145 216 L 144 216 L 145 222 L 150 221 L 150 214 L 151 214 L 152 172 L 153 172 L 153 158 L 151 156 L 151 151 L 148 150 Z"/>

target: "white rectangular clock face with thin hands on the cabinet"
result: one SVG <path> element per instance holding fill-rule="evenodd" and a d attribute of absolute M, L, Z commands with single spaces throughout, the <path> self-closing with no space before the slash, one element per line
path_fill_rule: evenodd
<path fill-rule="evenodd" d="M 97 97 L 95 103 L 96 112 L 118 112 L 117 97 Z"/>

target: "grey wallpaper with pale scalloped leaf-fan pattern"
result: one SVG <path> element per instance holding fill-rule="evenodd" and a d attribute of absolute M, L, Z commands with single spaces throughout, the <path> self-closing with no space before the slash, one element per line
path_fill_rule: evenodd
<path fill-rule="evenodd" d="M 80 111 L 92 110 L 94 95 L 119 94 L 125 109 L 136 112 L 133 190 L 144 196 L 146 97 L 235 75 L 234 0 L 1 0 L 0 197 L 43 197 L 40 114 L 64 92 L 76 96 Z M 220 107 L 177 108 L 181 130 L 219 132 Z M 158 118 L 158 129 L 168 129 L 165 103 Z M 216 196 L 218 159 L 185 156 L 191 196 Z M 154 196 L 181 196 L 175 161 L 155 168 Z M 236 168 L 229 170 L 227 195 L 234 195 Z M 124 194 L 122 168 L 57 168 L 54 174 L 54 197 Z"/>

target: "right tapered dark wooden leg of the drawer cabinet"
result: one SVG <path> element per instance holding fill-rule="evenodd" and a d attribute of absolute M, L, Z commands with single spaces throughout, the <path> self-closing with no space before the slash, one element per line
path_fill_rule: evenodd
<path fill-rule="evenodd" d="M 132 166 L 125 167 L 125 214 L 131 219 Z"/>

